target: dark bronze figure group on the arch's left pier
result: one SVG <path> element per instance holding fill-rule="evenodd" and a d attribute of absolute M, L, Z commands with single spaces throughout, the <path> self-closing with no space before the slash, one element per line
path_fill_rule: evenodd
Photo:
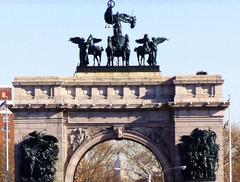
<path fill-rule="evenodd" d="M 22 143 L 22 182 L 53 182 L 58 140 L 43 132 L 32 132 Z"/>

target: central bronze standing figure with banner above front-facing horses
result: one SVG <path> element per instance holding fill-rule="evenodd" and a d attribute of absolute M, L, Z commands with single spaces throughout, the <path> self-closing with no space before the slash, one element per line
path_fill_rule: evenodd
<path fill-rule="evenodd" d="M 117 57 L 117 65 L 119 66 L 119 58 L 122 58 L 122 65 L 129 65 L 130 58 L 130 47 L 129 47 L 129 37 L 126 34 L 122 35 L 121 22 L 129 23 L 131 28 L 136 25 L 136 17 L 129 16 L 127 14 L 112 13 L 112 8 L 115 6 L 113 0 L 108 1 L 108 8 L 105 12 L 104 18 L 107 24 L 113 25 L 113 36 L 108 37 L 108 45 L 106 48 L 106 54 L 108 58 L 107 66 L 114 66 L 114 57 Z"/>

